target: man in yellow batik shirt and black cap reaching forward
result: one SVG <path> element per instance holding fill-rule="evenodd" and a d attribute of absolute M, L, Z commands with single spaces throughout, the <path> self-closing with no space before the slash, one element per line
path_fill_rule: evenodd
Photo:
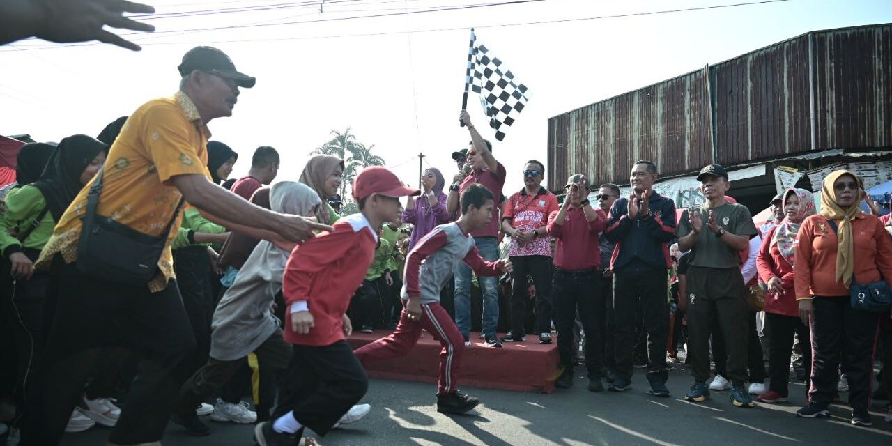
<path fill-rule="evenodd" d="M 22 446 L 61 441 L 99 349 L 108 345 L 128 347 L 142 357 L 109 442 L 159 444 L 195 344 L 169 247 L 179 227 L 175 213 L 181 198 L 223 226 L 278 244 L 301 243 L 313 229 L 328 228 L 264 210 L 211 183 L 205 167 L 207 124 L 231 116 L 239 87 L 253 87 L 255 80 L 209 46 L 186 53 L 178 70 L 177 94 L 136 109 L 111 145 L 97 207 L 99 215 L 147 235 L 162 235 L 174 220 L 157 275 L 144 285 L 119 285 L 78 270 L 81 219 L 93 181 L 88 183 L 37 260 L 37 268 L 50 269 L 47 302 L 54 302 L 48 304 L 54 311 L 34 391 L 39 410 L 25 420 Z M 126 252 L 128 246 L 118 249 Z"/>

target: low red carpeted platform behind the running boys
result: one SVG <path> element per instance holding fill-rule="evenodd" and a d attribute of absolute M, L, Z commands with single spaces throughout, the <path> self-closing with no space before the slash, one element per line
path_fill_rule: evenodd
<path fill-rule="evenodd" d="M 354 332 L 347 342 L 356 350 L 390 333 L 384 330 L 370 335 Z M 504 348 L 494 349 L 478 340 L 477 335 L 471 333 L 475 342 L 465 347 L 458 373 L 459 387 L 545 393 L 554 390 L 554 380 L 558 377 L 557 336 L 550 344 L 539 343 L 539 336 L 527 336 L 525 343 L 504 343 Z M 436 383 L 440 351 L 440 343 L 425 332 L 409 356 L 369 362 L 368 376 Z"/>

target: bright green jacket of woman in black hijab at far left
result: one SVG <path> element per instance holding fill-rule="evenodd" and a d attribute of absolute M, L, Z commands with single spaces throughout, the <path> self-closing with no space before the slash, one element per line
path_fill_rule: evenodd
<path fill-rule="evenodd" d="M 9 234 L 10 230 L 18 234 L 28 230 L 45 207 L 44 194 L 34 186 L 21 186 L 6 195 L 6 212 L 0 216 L 0 252 L 3 252 L 4 257 L 9 258 L 12 252 L 21 252 L 22 248 L 42 249 L 49 241 L 55 228 L 55 220 L 50 212 L 45 213 L 24 242 Z"/>

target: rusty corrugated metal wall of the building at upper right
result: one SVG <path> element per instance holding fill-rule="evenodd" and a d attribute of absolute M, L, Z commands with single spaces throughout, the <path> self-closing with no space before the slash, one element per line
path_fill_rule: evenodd
<path fill-rule="evenodd" d="M 713 140 L 726 165 L 808 152 L 810 85 L 814 149 L 890 146 L 890 63 L 892 25 L 819 31 L 568 111 L 549 120 L 549 186 L 574 173 L 625 185 L 638 159 L 690 172 L 713 162 Z"/>

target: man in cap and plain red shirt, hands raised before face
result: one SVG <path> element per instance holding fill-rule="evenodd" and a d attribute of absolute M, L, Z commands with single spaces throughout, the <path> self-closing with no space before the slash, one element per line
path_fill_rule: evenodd
<path fill-rule="evenodd" d="M 560 211 L 549 216 L 549 235 L 555 237 L 554 296 L 555 325 L 558 327 L 558 354 L 563 373 L 555 387 L 573 385 L 575 343 L 573 326 L 576 310 L 585 330 L 585 368 L 589 371 L 589 391 L 601 392 L 601 364 L 604 344 L 599 321 L 603 321 L 604 295 L 596 286 L 600 264 L 599 233 L 604 230 L 607 215 L 592 209 L 586 196 L 588 179 L 576 174 L 566 180 L 567 191 Z"/>

